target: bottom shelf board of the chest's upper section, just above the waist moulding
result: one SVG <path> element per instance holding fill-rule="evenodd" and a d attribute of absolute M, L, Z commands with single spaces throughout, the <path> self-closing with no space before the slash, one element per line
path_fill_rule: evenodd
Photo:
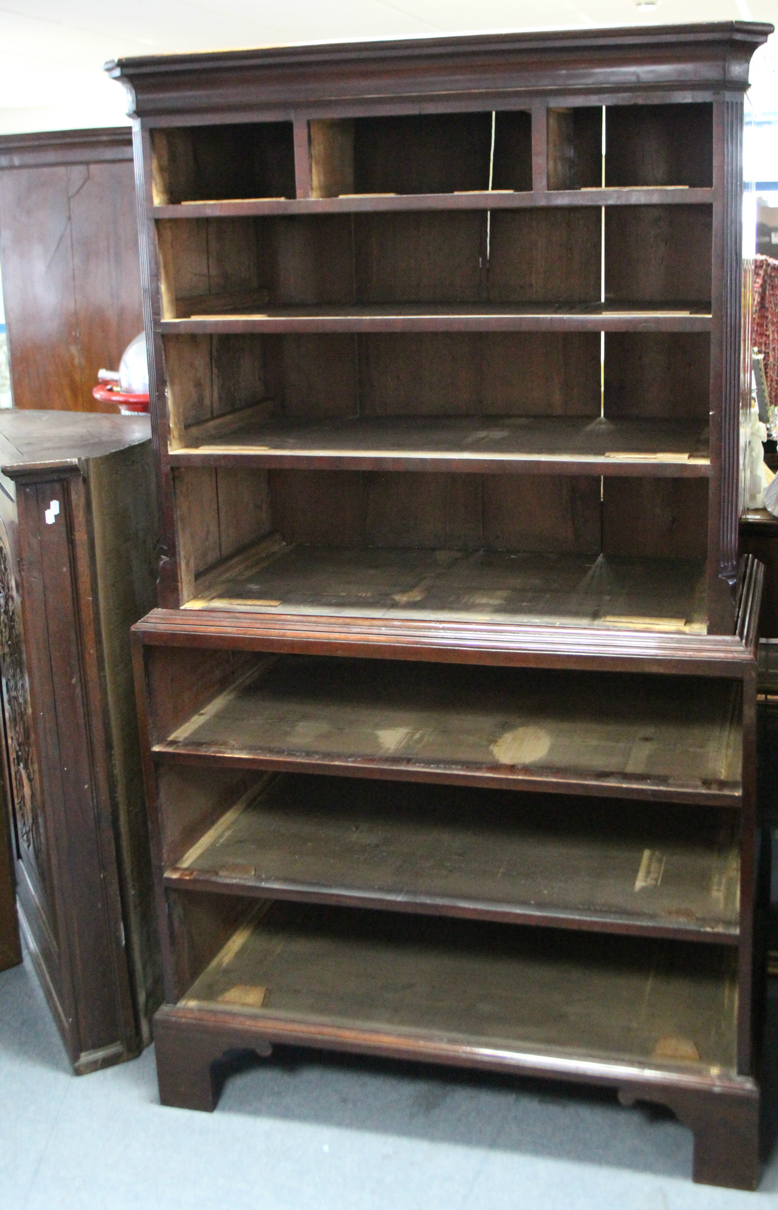
<path fill-rule="evenodd" d="M 198 576 L 184 607 L 704 634 L 704 571 L 685 559 L 341 549 L 271 536 Z"/>

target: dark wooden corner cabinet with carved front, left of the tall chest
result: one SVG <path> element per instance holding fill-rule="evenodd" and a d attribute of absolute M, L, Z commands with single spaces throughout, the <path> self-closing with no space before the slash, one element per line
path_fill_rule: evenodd
<path fill-rule="evenodd" d="M 77 1073 L 160 999 L 129 626 L 154 601 L 148 417 L 0 413 L 0 670 L 19 921 Z"/>

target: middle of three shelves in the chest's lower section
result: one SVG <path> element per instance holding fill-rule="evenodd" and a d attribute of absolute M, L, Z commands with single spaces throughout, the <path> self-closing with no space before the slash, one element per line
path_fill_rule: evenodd
<path fill-rule="evenodd" d="M 271 774 L 166 883 L 737 944 L 737 823 L 705 808 Z"/>

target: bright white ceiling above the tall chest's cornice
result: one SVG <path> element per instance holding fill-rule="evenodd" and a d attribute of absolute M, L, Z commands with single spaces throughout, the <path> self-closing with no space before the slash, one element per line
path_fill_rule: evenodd
<path fill-rule="evenodd" d="M 0 0 L 0 133 L 126 122 L 102 70 L 120 56 L 749 19 L 778 25 L 778 0 Z M 778 109 L 776 47 L 760 58 L 754 99 Z"/>

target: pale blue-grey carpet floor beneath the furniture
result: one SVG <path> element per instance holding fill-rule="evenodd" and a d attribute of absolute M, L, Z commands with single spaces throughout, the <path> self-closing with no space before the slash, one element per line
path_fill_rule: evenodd
<path fill-rule="evenodd" d="M 301 1050 L 214 1114 L 162 1108 L 152 1049 L 75 1077 L 29 962 L 0 974 L 2 1210 L 778 1210 L 778 1154 L 756 1194 L 692 1185 L 691 1158 L 609 1093 Z"/>

